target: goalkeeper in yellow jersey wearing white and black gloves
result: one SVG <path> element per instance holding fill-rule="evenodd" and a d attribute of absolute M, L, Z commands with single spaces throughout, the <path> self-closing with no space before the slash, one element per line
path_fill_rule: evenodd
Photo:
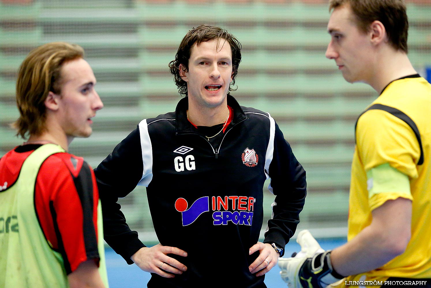
<path fill-rule="evenodd" d="M 326 57 L 379 96 L 356 123 L 348 242 L 315 253 L 298 240 L 305 253 L 280 259 L 281 277 L 289 287 L 431 287 L 431 85 L 407 57 L 405 3 L 329 2 Z"/>

